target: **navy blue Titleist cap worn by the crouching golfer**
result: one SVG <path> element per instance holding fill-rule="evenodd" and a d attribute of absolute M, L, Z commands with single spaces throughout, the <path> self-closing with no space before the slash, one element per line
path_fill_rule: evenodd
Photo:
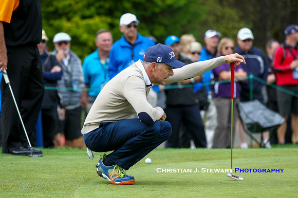
<path fill-rule="evenodd" d="M 176 60 L 173 50 L 169 46 L 158 43 L 148 48 L 144 54 L 144 61 L 165 63 L 173 68 L 182 68 L 185 63 Z"/>

